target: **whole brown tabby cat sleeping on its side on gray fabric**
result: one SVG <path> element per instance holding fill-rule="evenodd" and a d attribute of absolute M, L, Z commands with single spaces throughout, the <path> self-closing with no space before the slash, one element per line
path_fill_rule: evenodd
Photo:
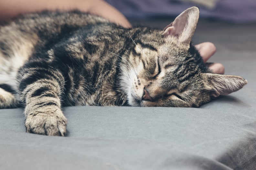
<path fill-rule="evenodd" d="M 24 107 L 27 132 L 64 136 L 62 106 L 199 107 L 247 80 L 213 74 L 191 45 L 199 10 L 162 30 L 91 14 L 27 14 L 0 27 L 0 108 Z"/>

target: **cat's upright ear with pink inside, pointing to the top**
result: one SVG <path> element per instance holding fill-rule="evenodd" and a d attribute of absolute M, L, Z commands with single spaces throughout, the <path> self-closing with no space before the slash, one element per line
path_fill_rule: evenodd
<path fill-rule="evenodd" d="M 164 29 L 165 36 L 176 36 L 180 43 L 189 45 L 195 33 L 199 18 L 199 9 L 191 7 L 183 11 Z"/>

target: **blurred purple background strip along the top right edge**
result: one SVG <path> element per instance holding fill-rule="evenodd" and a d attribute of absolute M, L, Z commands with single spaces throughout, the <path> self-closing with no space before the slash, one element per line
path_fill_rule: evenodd
<path fill-rule="evenodd" d="M 201 18 L 234 23 L 256 22 L 256 0 L 106 0 L 128 18 L 177 16 L 191 6 Z"/>

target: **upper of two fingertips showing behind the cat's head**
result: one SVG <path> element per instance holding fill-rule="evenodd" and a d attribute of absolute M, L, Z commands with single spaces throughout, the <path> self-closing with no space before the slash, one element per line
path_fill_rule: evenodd
<path fill-rule="evenodd" d="M 211 42 L 203 42 L 195 45 L 195 47 L 203 58 L 204 62 L 208 61 L 208 59 L 216 52 L 216 47 Z"/>

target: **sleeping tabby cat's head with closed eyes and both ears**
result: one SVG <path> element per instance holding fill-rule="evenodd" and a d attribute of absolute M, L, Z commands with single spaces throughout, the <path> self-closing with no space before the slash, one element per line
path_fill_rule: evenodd
<path fill-rule="evenodd" d="M 247 84 L 204 65 L 191 45 L 198 17 L 198 8 L 191 7 L 163 31 L 138 28 L 129 34 L 134 48 L 123 58 L 121 82 L 131 106 L 199 107 Z"/>

